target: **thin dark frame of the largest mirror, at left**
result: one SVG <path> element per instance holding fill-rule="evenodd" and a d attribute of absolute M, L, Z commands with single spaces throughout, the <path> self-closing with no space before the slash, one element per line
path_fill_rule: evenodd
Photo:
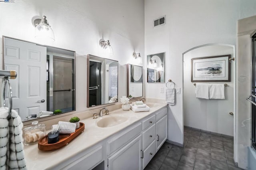
<path fill-rule="evenodd" d="M 76 111 L 76 51 L 73 51 L 73 50 L 70 50 L 70 49 L 64 49 L 64 48 L 59 48 L 59 47 L 53 47 L 53 46 L 50 46 L 50 45 L 43 45 L 43 44 L 40 44 L 40 43 L 35 43 L 35 42 L 30 42 L 30 41 L 26 41 L 26 40 L 21 40 L 21 39 L 18 39 L 18 38 L 13 38 L 13 37 L 8 37 L 8 36 L 2 36 L 2 61 L 3 61 L 3 69 L 4 69 L 4 38 L 11 38 L 11 39 L 14 39 L 14 40 L 19 40 L 19 41 L 22 41 L 22 42 L 28 42 L 28 43 L 34 43 L 36 45 L 40 45 L 40 46 L 43 46 L 43 47 L 52 47 L 52 48 L 56 48 L 56 49 L 61 49 L 61 50 L 66 50 L 66 51 L 70 51 L 70 52 L 73 52 L 74 53 L 74 110 L 73 111 L 69 111 L 69 112 L 65 112 L 65 113 L 58 113 L 58 114 L 53 114 L 53 115 L 50 115 L 48 117 L 39 117 L 39 118 L 36 118 L 36 119 L 28 119 L 28 120 L 22 120 L 22 123 L 30 123 L 30 121 L 37 121 L 39 119 L 44 119 L 44 120 L 49 120 L 49 119 L 53 119 L 52 117 L 56 117 L 56 116 L 60 116 L 60 115 L 66 115 L 67 113 L 70 114 L 71 112 L 74 112 Z M 50 78 L 50 77 L 49 77 Z M 24 124 L 24 125 L 27 125 L 27 124 Z"/>

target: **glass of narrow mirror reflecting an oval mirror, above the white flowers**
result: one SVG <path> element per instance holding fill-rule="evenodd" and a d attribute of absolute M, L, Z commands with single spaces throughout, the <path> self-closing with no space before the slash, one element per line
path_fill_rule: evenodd
<path fill-rule="evenodd" d="M 143 96 L 143 67 L 127 64 L 127 97 Z"/>

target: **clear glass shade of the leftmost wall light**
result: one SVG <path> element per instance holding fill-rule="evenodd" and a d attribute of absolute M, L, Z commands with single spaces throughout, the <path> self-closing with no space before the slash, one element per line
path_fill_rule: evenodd
<path fill-rule="evenodd" d="M 44 40 L 50 39 L 52 41 L 55 40 L 52 28 L 49 25 L 43 23 L 40 23 L 36 26 L 35 38 Z"/>

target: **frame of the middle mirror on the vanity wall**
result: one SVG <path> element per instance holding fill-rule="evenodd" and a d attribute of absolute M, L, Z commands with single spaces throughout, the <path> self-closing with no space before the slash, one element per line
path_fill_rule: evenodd
<path fill-rule="evenodd" d="M 108 58 L 103 58 L 103 57 L 99 57 L 99 58 L 102 58 L 102 59 L 108 59 L 108 60 L 112 60 L 112 61 L 116 61 L 118 63 L 118 67 L 117 67 L 117 101 L 116 102 L 113 102 L 113 103 L 105 103 L 105 104 L 101 104 L 101 105 L 96 105 L 96 106 L 90 106 L 90 103 L 89 103 L 89 99 L 90 99 L 90 96 L 89 96 L 89 77 L 90 77 L 90 56 L 92 57 L 98 57 L 96 55 L 92 55 L 92 54 L 87 54 L 87 108 L 92 108 L 92 107 L 97 107 L 97 106 L 100 106 L 102 107 L 103 105 L 114 105 L 115 103 L 118 103 L 118 78 L 119 78 L 119 63 L 118 61 L 114 60 L 114 59 L 108 59 Z"/>

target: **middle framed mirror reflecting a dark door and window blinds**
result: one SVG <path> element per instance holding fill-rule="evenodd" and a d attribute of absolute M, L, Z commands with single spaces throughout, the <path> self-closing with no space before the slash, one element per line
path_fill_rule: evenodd
<path fill-rule="evenodd" d="M 87 55 L 87 107 L 118 101 L 118 61 Z"/>

